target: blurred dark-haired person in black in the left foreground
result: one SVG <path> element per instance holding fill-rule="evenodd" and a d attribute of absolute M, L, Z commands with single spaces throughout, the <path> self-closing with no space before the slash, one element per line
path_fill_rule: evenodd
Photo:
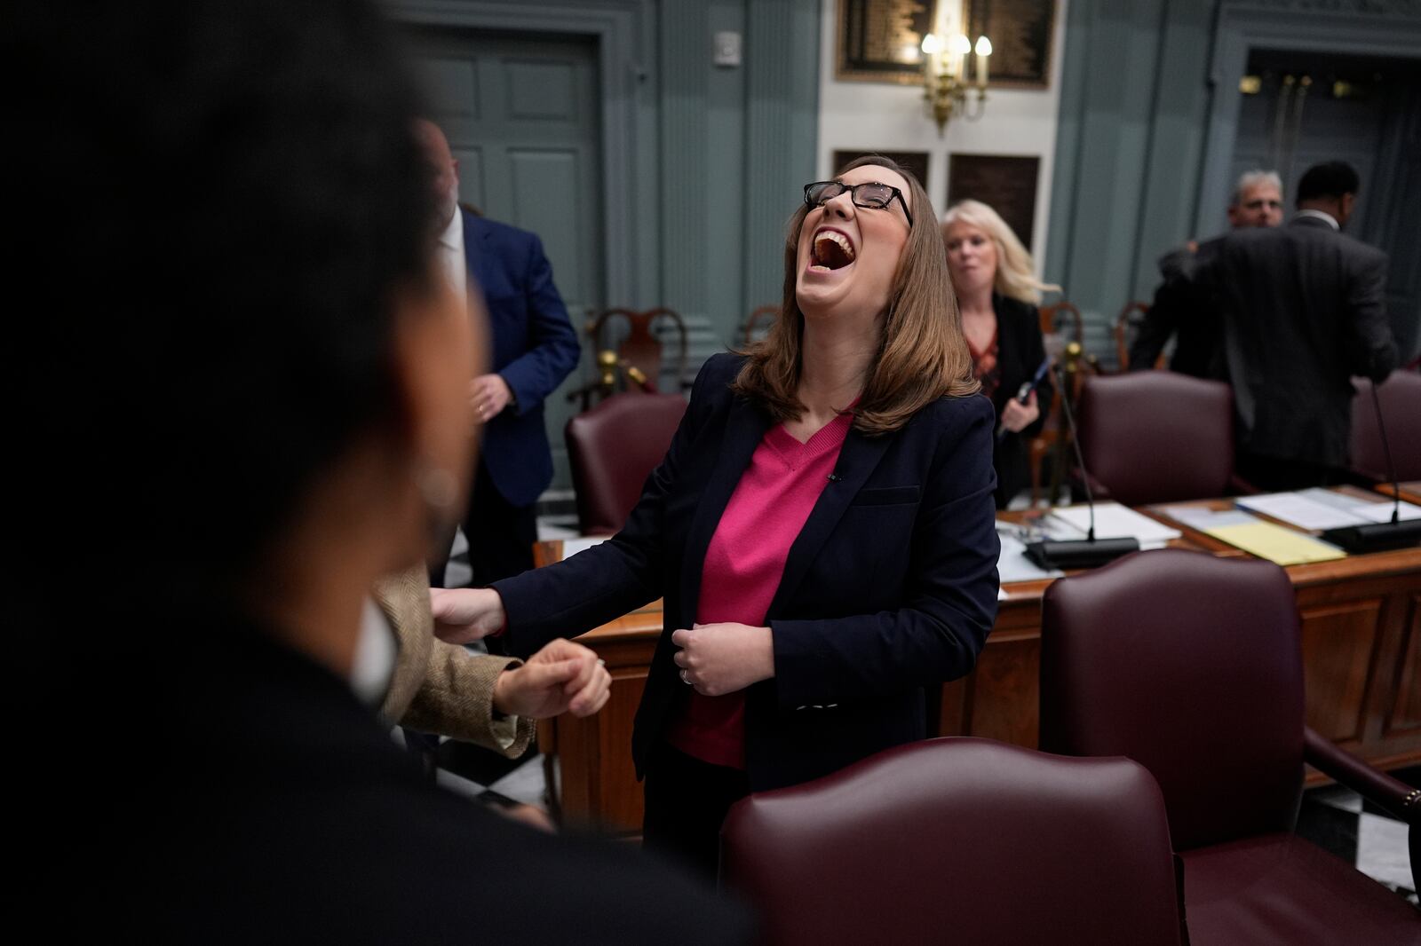
<path fill-rule="evenodd" d="M 6 180 L 44 200 L 18 263 L 48 305 L 7 358 L 36 457 L 7 692 L 44 727 L 10 849 L 44 937 L 742 942 L 637 852 L 431 785 L 352 690 L 372 585 L 460 513 L 483 344 L 438 274 L 394 27 L 276 0 L 0 17 L 30 81 Z M 71 580 L 95 509 L 107 554 Z"/>

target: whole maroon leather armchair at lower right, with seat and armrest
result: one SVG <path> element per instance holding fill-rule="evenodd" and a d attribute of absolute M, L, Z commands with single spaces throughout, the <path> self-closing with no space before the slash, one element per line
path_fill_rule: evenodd
<path fill-rule="evenodd" d="M 1282 568 L 1167 548 L 1056 581 L 1040 673 L 1044 751 L 1128 756 L 1158 780 L 1194 946 L 1421 942 L 1415 909 L 1293 834 L 1304 759 L 1410 821 L 1412 848 L 1418 805 L 1304 729 Z"/>

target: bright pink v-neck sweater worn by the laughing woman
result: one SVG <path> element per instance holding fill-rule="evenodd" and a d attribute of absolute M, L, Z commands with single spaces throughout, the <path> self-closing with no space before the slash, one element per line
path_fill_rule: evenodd
<path fill-rule="evenodd" d="M 764 625 L 790 545 L 828 484 L 851 423 L 840 415 L 807 443 L 779 423 L 764 433 L 706 548 L 696 624 Z M 745 692 L 688 696 L 668 741 L 702 761 L 745 768 Z"/>

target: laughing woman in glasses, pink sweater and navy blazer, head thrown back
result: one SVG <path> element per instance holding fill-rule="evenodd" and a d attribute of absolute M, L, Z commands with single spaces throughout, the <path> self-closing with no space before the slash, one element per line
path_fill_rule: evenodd
<path fill-rule="evenodd" d="M 441 592 L 442 634 L 524 653 L 665 598 L 644 834 L 713 872 L 732 803 L 922 739 L 924 687 L 972 669 L 998 555 L 976 392 L 926 193 L 858 159 L 804 187 L 779 321 L 706 362 L 622 531 Z"/>

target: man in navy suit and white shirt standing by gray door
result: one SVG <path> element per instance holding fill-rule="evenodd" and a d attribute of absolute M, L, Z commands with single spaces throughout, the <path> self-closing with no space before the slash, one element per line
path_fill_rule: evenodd
<path fill-rule="evenodd" d="M 433 122 L 418 129 L 435 169 L 439 257 L 455 287 L 477 287 L 489 310 L 493 371 L 469 385 L 483 449 L 463 526 L 473 584 L 486 585 L 533 567 L 533 504 L 553 482 L 543 401 L 577 366 L 580 348 L 541 240 L 460 207 L 448 139 Z M 443 585 L 443 561 L 431 565 L 432 585 Z"/>

